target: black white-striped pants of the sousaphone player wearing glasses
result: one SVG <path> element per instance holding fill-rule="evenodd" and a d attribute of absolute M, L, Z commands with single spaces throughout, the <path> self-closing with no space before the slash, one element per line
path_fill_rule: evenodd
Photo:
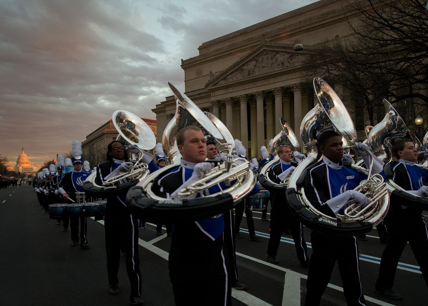
<path fill-rule="evenodd" d="M 109 285 L 119 283 L 120 248 L 125 251 L 126 271 L 131 283 L 131 297 L 141 296 L 140 256 L 138 254 L 137 217 L 131 215 L 126 206 L 107 201 L 104 216 L 106 234 L 107 273 Z M 119 284 L 120 286 L 120 284 Z"/>

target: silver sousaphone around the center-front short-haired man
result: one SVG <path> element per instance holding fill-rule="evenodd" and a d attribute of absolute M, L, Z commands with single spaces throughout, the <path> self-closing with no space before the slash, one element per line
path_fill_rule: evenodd
<path fill-rule="evenodd" d="M 156 222 L 185 222 L 205 219 L 233 208 L 235 203 L 248 195 L 256 183 L 256 177 L 250 170 L 250 162 L 242 158 L 233 158 L 235 146 L 232 135 L 217 117 L 204 114 L 184 93 L 168 83 L 175 96 L 176 111 L 163 132 L 163 150 L 170 165 L 155 171 L 132 187 L 126 197 L 126 203 L 132 213 L 146 220 Z M 209 174 L 198 182 L 178 192 L 178 198 L 166 199 L 158 195 L 158 180 L 180 165 L 181 154 L 176 143 L 178 131 L 185 126 L 199 126 L 205 136 L 216 138 L 227 148 L 227 160 L 216 165 Z M 210 186 L 224 182 L 227 189 L 213 195 L 187 199 Z"/>

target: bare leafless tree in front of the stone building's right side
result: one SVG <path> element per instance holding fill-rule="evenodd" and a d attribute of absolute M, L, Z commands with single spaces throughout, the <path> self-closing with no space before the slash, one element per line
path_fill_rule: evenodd
<path fill-rule="evenodd" d="M 351 36 L 320 42 L 319 52 L 308 57 L 313 67 L 308 75 L 342 85 L 343 100 L 355 103 L 357 115 L 365 111 L 371 125 L 385 115 L 382 100 L 387 99 L 413 127 L 414 117 L 428 106 L 425 0 L 351 0 L 348 5 L 358 15 L 349 23 Z"/>

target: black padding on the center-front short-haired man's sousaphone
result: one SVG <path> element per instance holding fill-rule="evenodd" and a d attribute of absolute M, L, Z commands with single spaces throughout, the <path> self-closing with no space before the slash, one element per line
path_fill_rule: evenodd
<path fill-rule="evenodd" d="M 206 219 L 231 210 L 232 195 L 223 193 L 215 197 L 158 201 L 146 197 L 143 187 L 135 186 L 126 195 L 128 210 L 138 218 L 163 223 L 189 222 Z"/>

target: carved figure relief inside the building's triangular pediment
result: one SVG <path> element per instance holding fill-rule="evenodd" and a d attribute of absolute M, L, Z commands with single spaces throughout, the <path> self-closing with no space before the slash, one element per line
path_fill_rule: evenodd
<path fill-rule="evenodd" d="M 247 63 L 244 63 L 238 69 L 235 69 L 235 71 L 221 79 L 218 84 L 297 66 L 302 61 L 303 57 L 304 55 L 300 54 L 266 50 L 247 61 Z"/>

